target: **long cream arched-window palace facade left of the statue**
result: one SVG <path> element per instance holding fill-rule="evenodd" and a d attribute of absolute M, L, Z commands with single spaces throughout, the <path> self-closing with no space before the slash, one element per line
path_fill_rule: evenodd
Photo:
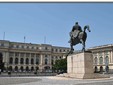
<path fill-rule="evenodd" d="M 55 61 L 62 59 L 69 50 L 67 47 L 49 44 L 0 40 L 0 52 L 3 54 L 5 70 L 11 71 L 51 71 Z"/>

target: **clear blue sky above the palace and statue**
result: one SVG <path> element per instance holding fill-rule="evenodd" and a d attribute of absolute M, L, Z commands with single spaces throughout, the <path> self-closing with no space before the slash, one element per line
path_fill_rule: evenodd
<path fill-rule="evenodd" d="M 90 26 L 86 48 L 113 44 L 113 3 L 0 3 L 0 40 L 69 47 L 76 21 Z"/>

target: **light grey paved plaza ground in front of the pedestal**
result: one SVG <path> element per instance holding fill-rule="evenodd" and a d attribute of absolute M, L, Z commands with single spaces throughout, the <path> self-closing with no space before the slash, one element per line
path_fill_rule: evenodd
<path fill-rule="evenodd" d="M 73 79 L 56 76 L 0 77 L 0 85 L 113 85 L 113 77 L 106 79 Z"/>

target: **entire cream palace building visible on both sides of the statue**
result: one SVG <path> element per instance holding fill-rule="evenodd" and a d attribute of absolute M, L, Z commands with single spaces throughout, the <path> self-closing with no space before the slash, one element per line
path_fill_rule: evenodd
<path fill-rule="evenodd" d="M 4 71 L 13 72 L 39 71 L 51 72 L 52 65 L 63 59 L 69 52 L 68 47 L 49 44 L 32 44 L 0 40 L 0 53 L 4 62 Z M 113 44 L 87 49 L 93 54 L 94 72 L 113 73 Z"/>

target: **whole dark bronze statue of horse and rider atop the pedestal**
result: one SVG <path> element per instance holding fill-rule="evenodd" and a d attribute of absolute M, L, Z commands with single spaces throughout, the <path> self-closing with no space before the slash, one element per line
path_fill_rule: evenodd
<path fill-rule="evenodd" d="M 89 25 L 84 26 L 84 29 L 82 30 L 82 28 L 78 24 L 78 22 L 75 23 L 75 25 L 73 26 L 71 32 L 69 33 L 69 35 L 70 35 L 69 43 L 70 43 L 70 47 L 71 47 L 71 50 L 70 50 L 69 54 L 73 53 L 73 51 L 74 51 L 73 46 L 77 45 L 79 43 L 83 45 L 82 51 L 83 52 L 85 51 L 85 42 L 86 42 L 86 39 L 87 39 L 86 29 L 89 32 L 91 32 L 90 28 L 89 28 Z"/>

